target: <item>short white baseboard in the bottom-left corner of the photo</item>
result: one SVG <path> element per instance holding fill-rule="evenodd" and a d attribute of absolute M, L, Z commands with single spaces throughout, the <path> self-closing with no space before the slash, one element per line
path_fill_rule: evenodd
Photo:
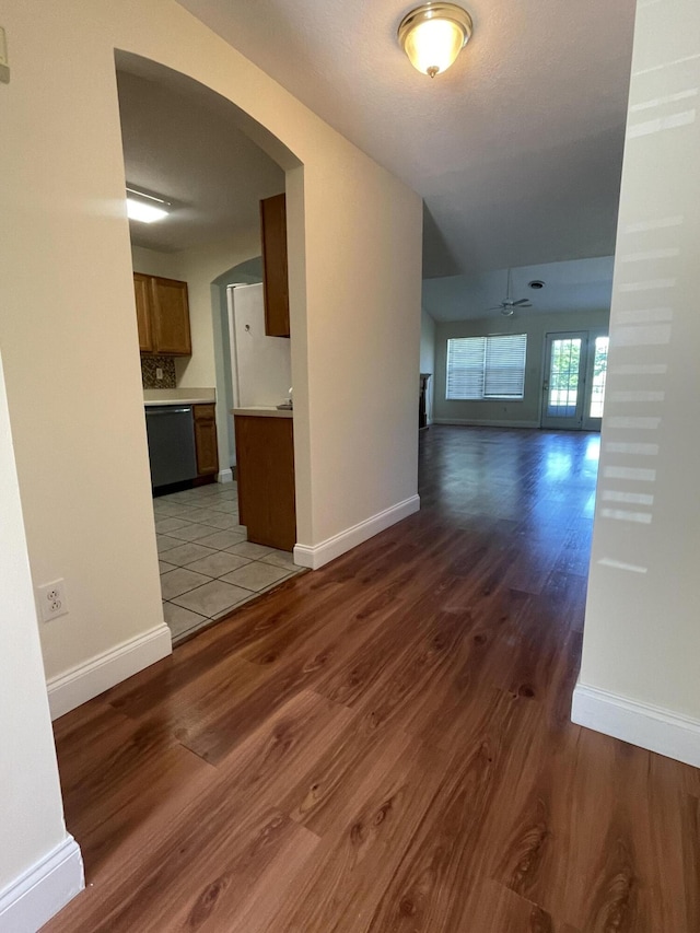
<path fill-rule="evenodd" d="M 0 891 L 0 931 L 36 933 L 84 887 L 80 847 L 68 836 Z"/>

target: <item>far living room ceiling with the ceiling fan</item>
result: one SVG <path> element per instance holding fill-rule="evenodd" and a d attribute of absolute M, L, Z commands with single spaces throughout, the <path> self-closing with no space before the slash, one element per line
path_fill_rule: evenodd
<path fill-rule="evenodd" d="M 573 259 L 511 270 L 511 298 L 528 299 L 532 307 L 515 308 L 514 319 L 559 312 L 609 311 L 614 257 Z M 538 279 L 538 291 L 529 282 Z M 505 298 L 508 269 L 477 276 L 448 276 L 423 280 L 423 307 L 435 320 L 499 320 L 498 305 Z M 495 310 L 493 310 L 495 308 Z"/>

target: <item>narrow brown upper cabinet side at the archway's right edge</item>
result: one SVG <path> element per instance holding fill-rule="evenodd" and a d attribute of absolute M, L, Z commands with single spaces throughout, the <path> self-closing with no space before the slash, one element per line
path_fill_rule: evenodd
<path fill-rule="evenodd" d="M 265 333 L 289 337 L 289 284 L 287 277 L 287 198 L 276 195 L 260 201 Z"/>

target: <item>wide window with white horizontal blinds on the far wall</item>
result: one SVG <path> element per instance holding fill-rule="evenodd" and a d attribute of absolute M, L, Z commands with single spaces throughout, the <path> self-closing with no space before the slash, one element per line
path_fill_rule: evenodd
<path fill-rule="evenodd" d="M 446 398 L 523 398 L 527 334 L 447 340 Z"/>

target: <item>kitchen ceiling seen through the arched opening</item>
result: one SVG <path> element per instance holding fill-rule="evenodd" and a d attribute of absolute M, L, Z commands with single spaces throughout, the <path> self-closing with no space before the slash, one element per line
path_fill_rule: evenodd
<path fill-rule="evenodd" d="M 173 203 L 164 221 L 130 221 L 131 242 L 170 253 L 254 229 L 284 173 L 236 128 L 234 108 L 142 59 L 122 56 L 118 68 L 127 183 Z"/>

